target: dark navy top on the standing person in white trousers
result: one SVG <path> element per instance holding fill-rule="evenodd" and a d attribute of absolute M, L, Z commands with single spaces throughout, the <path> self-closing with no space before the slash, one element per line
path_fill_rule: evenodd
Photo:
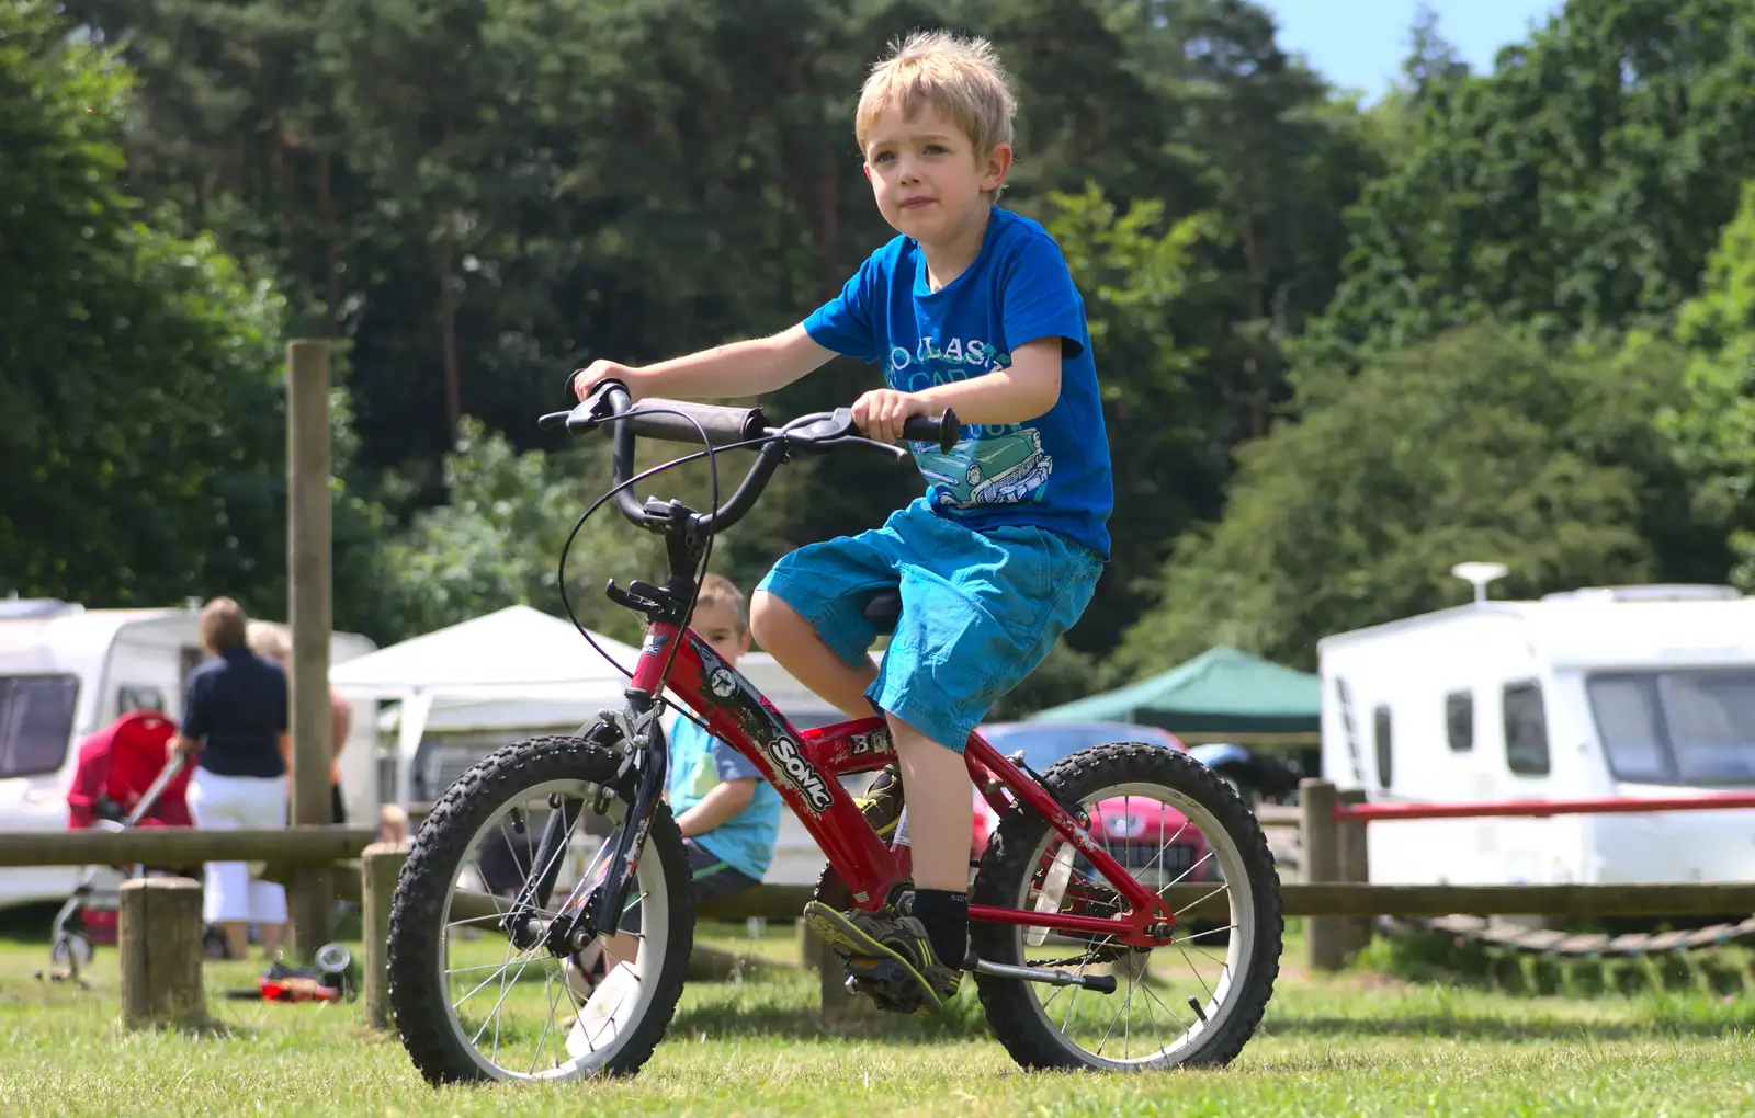
<path fill-rule="evenodd" d="M 214 776 L 284 776 L 286 673 L 242 645 L 190 673 L 184 738 L 202 743 L 200 768 Z"/>

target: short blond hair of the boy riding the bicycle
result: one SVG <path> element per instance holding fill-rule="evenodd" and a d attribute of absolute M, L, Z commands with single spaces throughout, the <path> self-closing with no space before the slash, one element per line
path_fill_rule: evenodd
<path fill-rule="evenodd" d="M 951 32 L 914 32 L 890 40 L 890 54 L 872 67 L 860 88 L 853 135 L 860 151 L 888 109 L 913 119 L 932 105 L 955 123 L 976 158 L 985 159 L 1000 144 L 1011 144 L 1011 117 L 1018 100 L 1011 93 L 999 51 L 986 39 L 962 39 Z"/>

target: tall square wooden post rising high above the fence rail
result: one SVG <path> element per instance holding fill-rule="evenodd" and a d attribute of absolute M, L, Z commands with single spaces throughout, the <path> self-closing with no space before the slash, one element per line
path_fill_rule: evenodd
<path fill-rule="evenodd" d="M 293 824 L 330 818 L 330 363 L 328 345 L 286 343 L 286 620 L 293 629 L 288 713 Z M 328 866 L 304 866 L 286 890 L 293 946 L 311 962 L 330 936 Z"/>

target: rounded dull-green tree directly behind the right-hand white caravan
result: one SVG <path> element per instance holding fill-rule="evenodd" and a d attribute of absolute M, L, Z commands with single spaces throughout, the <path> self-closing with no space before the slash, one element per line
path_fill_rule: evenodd
<path fill-rule="evenodd" d="M 1374 361 L 1244 449 L 1225 519 L 1178 543 L 1121 666 L 1228 643 L 1309 668 L 1329 633 L 1464 601 L 1464 559 L 1506 563 L 1506 594 L 1644 578 L 1641 496 L 1667 463 L 1641 433 L 1680 377 L 1658 357 L 1557 357 L 1479 324 Z"/>

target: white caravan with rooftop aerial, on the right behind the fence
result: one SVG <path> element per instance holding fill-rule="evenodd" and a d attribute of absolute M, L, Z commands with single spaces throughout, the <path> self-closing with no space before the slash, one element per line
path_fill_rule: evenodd
<path fill-rule="evenodd" d="M 1472 566 L 1472 564 L 1469 564 Z M 1318 641 L 1323 776 L 1372 803 L 1755 789 L 1755 598 L 1643 585 L 1476 601 Z M 1374 883 L 1755 880 L 1755 811 L 1367 825 Z"/>

